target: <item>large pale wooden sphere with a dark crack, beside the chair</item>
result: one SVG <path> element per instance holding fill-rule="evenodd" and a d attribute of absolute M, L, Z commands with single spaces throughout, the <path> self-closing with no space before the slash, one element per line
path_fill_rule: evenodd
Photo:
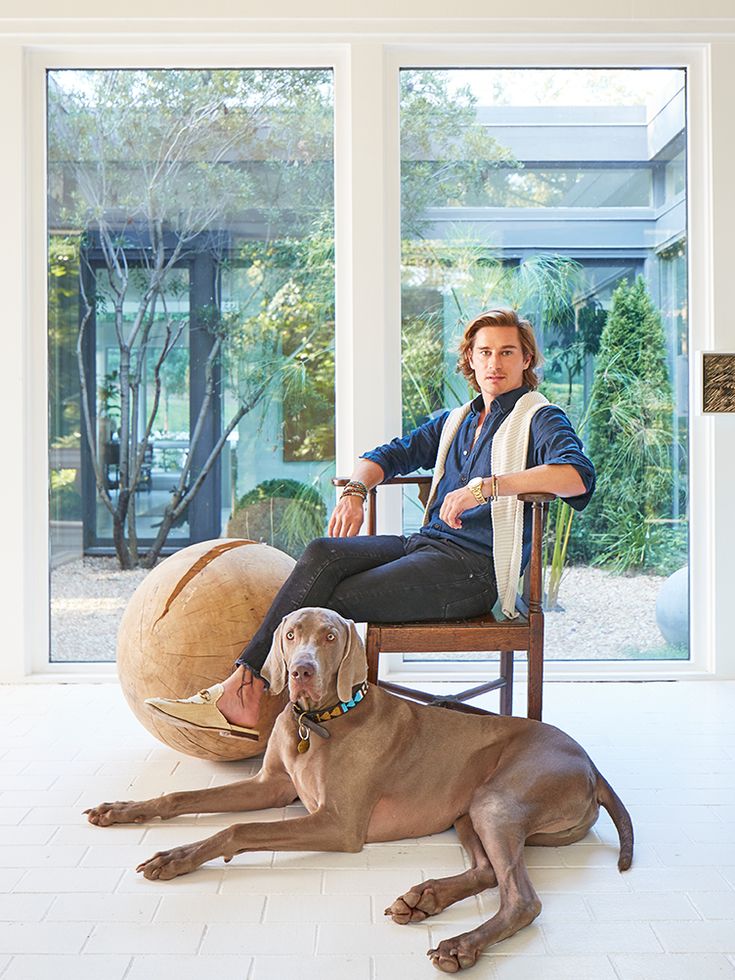
<path fill-rule="evenodd" d="M 145 698 L 186 698 L 224 680 L 294 566 L 282 551 L 218 538 L 183 548 L 133 593 L 120 622 L 117 665 L 125 698 L 145 728 L 200 759 L 247 759 L 265 749 L 287 694 L 263 697 L 260 739 L 177 728 Z"/>

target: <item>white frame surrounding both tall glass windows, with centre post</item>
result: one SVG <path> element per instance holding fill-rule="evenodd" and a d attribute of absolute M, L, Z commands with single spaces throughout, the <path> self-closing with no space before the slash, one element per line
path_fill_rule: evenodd
<path fill-rule="evenodd" d="M 252 37 L 252 35 L 250 35 Z M 20 251 L 22 284 L 16 292 L 24 323 L 22 403 L 22 528 L 13 537 L 23 555 L 24 599 L 11 630 L 11 652 L 0 677 L 79 681 L 111 679 L 114 664 L 50 664 L 48 661 L 48 440 L 46 419 L 46 267 L 45 267 L 45 72 L 49 68 L 106 67 L 327 67 L 334 71 L 335 91 L 335 231 L 336 231 L 336 415 L 337 470 L 348 472 L 366 446 L 400 430 L 400 139 L 399 70 L 421 67 L 682 67 L 687 70 L 688 230 L 690 377 L 696 378 L 698 351 L 715 349 L 712 311 L 712 100 L 710 45 L 701 43 L 605 40 L 599 37 L 561 41 L 551 34 L 498 40 L 477 35 L 467 42 L 426 43 L 417 31 L 400 42 L 390 34 L 361 37 L 337 32 L 331 38 L 304 34 L 275 43 L 233 43 L 232 35 L 209 34 L 205 42 L 162 43 L 155 38 L 123 44 L 114 35 L 89 35 L 68 43 L 38 44 L 18 40 L 23 62 L 23 91 L 13 117 L 24 134 L 21 166 L 14 172 L 21 190 L 25 238 Z M 17 61 L 6 65 L 10 77 Z M 722 69 L 721 69 L 722 70 Z M 722 78 L 720 81 L 722 82 Z M 720 118 L 724 116 L 718 104 Z M 16 160 L 17 166 L 17 160 Z M 723 236 L 724 232 L 720 231 Z M 720 287 L 724 290 L 724 283 Z M 719 307 L 725 309 L 724 295 Z M 382 397 L 374 394 L 382 378 Z M 547 662 L 547 678 L 672 679 L 735 674 L 735 653 L 718 651 L 716 632 L 714 518 L 715 427 L 696 405 L 697 385 L 690 385 L 690 569 L 692 593 L 691 659 L 687 663 Z M 366 408 L 369 406 L 369 408 Z M 718 430 L 719 431 L 719 430 Z M 720 505 L 720 508 L 722 505 Z M 400 495 L 386 489 L 380 531 L 400 529 Z M 722 561 L 722 559 L 721 559 Z M 724 620 L 723 620 L 724 622 Z M 22 628 L 18 628 L 21 627 Z M 19 642 L 14 644 L 13 638 Z M 414 679 L 439 675 L 461 681 L 456 665 L 441 671 L 407 670 Z M 522 670 L 519 671 L 523 673 Z M 476 674 L 475 674 L 476 676 Z"/>

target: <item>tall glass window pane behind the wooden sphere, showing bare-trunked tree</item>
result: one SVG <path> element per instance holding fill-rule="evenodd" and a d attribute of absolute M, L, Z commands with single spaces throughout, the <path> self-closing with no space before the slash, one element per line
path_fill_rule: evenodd
<path fill-rule="evenodd" d="M 112 660 L 165 554 L 324 530 L 333 80 L 54 70 L 47 100 L 51 659 Z"/>

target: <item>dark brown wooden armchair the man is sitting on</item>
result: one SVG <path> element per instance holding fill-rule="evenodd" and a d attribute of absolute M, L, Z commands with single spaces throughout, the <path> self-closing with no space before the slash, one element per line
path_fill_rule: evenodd
<path fill-rule="evenodd" d="M 349 481 L 337 477 L 332 480 L 336 487 Z M 381 486 L 416 484 L 423 504 L 429 494 L 431 477 L 400 476 L 386 480 Z M 430 620 L 419 623 L 368 623 L 365 647 L 368 661 L 368 681 L 378 684 L 393 694 L 439 704 L 474 714 L 488 714 L 482 708 L 467 704 L 488 691 L 500 689 L 500 714 L 513 713 L 513 659 L 516 651 L 528 652 L 528 709 L 529 718 L 541 721 L 541 702 L 544 675 L 544 612 L 541 605 L 541 565 L 543 528 L 552 493 L 523 493 L 519 499 L 531 504 L 532 538 L 531 561 L 524 574 L 524 595 L 519 596 L 517 606 L 521 615 L 517 619 L 497 620 L 492 613 L 472 619 Z M 367 500 L 367 533 L 376 533 L 377 488 L 372 489 Z M 417 691 L 379 679 L 381 653 L 490 653 L 500 654 L 500 675 L 485 684 L 478 684 L 459 694 L 437 697 L 427 691 Z"/>

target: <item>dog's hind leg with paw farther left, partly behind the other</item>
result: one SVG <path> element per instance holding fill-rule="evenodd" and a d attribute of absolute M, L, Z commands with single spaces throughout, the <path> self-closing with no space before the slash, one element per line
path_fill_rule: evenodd
<path fill-rule="evenodd" d="M 477 895 L 486 888 L 497 884 L 495 872 L 488 861 L 480 838 L 472 827 L 472 821 L 465 813 L 454 825 L 460 843 L 471 862 L 471 867 L 458 875 L 448 878 L 432 878 L 413 885 L 399 896 L 386 910 L 394 922 L 405 925 L 408 922 L 421 922 L 430 915 L 436 915 L 449 905 Z"/>

